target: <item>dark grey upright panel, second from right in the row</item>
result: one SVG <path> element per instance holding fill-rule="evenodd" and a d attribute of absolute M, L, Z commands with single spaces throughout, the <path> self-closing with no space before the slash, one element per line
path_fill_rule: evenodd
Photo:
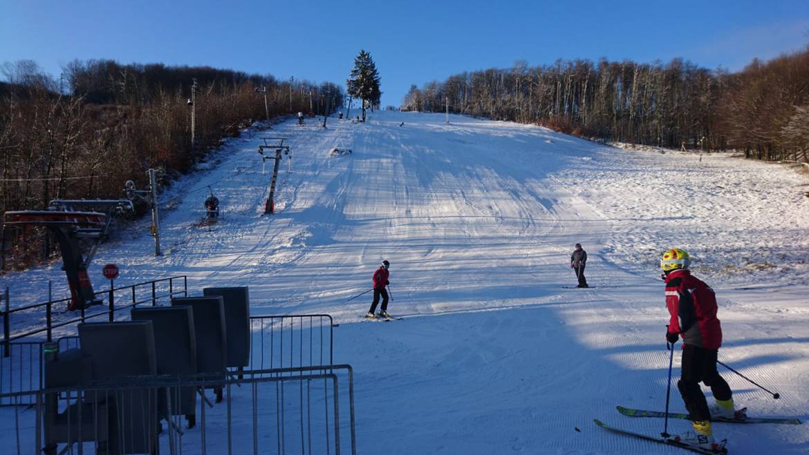
<path fill-rule="evenodd" d="M 222 297 L 172 298 L 172 306 L 193 308 L 197 340 L 197 372 L 222 373 L 227 369 L 227 332 Z"/>

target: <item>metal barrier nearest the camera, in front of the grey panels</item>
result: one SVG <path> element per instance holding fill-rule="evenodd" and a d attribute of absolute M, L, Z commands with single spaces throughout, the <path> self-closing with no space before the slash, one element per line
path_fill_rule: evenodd
<path fill-rule="evenodd" d="M 221 377 L 214 381 L 222 384 Z M 2 394 L 0 399 L 35 403 L 0 409 L 3 453 L 357 453 L 349 365 L 246 370 L 244 379 L 224 382 L 224 406 L 206 410 L 210 403 L 198 401 L 197 425 L 184 428 L 182 416 L 172 412 L 177 403 L 167 398 L 184 387 L 205 390 L 208 382 L 133 377 Z M 297 393 L 272 393 L 281 386 Z"/>

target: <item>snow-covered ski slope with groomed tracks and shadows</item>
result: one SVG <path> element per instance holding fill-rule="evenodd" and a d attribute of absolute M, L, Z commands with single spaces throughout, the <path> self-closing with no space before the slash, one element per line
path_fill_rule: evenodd
<path fill-rule="evenodd" d="M 261 215 L 260 137 L 288 137 L 293 155 L 272 216 Z M 354 153 L 331 157 L 335 146 Z M 208 164 L 164 197 L 164 255 L 142 224 L 100 249 L 96 286 L 118 263 L 116 284 L 187 275 L 192 289 L 250 286 L 254 315 L 332 314 L 335 360 L 356 375 L 358 453 L 678 453 L 593 423 L 663 431 L 615 406 L 663 409 L 658 261 L 672 246 L 718 294 L 720 360 L 781 394 L 722 370 L 737 403 L 809 419 L 809 178 L 794 169 L 404 112 L 251 129 Z M 195 227 L 207 185 L 222 203 L 212 232 Z M 576 242 L 591 289 L 563 288 L 575 285 Z M 388 310 L 405 318 L 362 322 L 371 293 L 346 300 L 370 289 L 382 259 Z M 64 278 L 53 266 L 3 280 L 13 296 L 44 296 Z M 675 384 L 671 397 L 684 411 Z M 730 453 L 809 453 L 807 423 L 714 432 Z"/>

